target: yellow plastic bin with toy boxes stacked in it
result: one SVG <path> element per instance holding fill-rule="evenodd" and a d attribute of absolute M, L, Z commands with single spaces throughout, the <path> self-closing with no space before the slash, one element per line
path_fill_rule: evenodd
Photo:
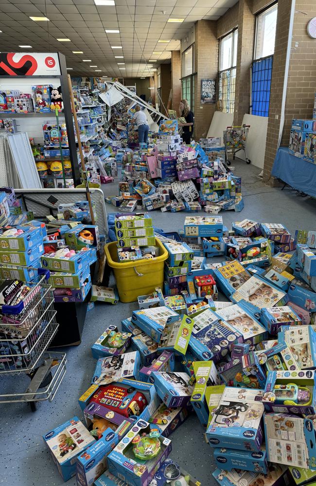
<path fill-rule="evenodd" d="M 139 295 L 147 295 L 155 287 L 163 286 L 163 267 L 168 251 L 156 238 L 160 255 L 156 258 L 118 262 L 117 242 L 104 247 L 107 263 L 113 269 L 121 302 L 134 302 Z"/>

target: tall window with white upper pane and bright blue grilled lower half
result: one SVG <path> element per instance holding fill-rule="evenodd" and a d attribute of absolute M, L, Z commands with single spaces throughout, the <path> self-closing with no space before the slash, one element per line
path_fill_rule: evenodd
<path fill-rule="evenodd" d="M 269 116 L 271 78 L 278 4 L 257 15 L 254 60 L 251 66 L 250 112 L 261 117 Z"/>

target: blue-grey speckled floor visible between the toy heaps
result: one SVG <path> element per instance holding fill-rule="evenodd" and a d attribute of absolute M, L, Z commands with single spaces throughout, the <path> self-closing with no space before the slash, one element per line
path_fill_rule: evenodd
<path fill-rule="evenodd" d="M 256 179 L 260 172 L 245 162 L 235 161 L 235 174 L 242 177 L 245 208 L 241 213 L 222 212 L 223 222 L 231 227 L 232 221 L 245 218 L 260 222 L 283 223 L 290 231 L 295 229 L 316 230 L 316 202 L 302 198 L 288 188 L 270 188 Z M 104 186 L 105 194 L 117 193 L 117 181 Z M 116 208 L 106 205 L 108 212 Z M 166 231 L 183 228 L 185 212 L 161 213 L 153 211 L 153 223 Z M 191 213 L 192 214 L 192 213 Z M 201 213 L 202 214 L 202 213 Z M 203 212 L 204 214 L 204 212 Z M 95 360 L 90 346 L 109 324 L 120 325 L 129 317 L 136 304 L 117 306 L 97 303 L 88 312 L 79 347 L 66 348 L 67 373 L 52 403 L 39 403 L 32 413 L 24 404 L 6 404 L 0 408 L 0 454 L 2 460 L 0 484 L 14 486 L 59 486 L 63 484 L 53 460 L 44 446 L 42 434 L 63 423 L 74 415 L 83 418 L 77 399 L 88 388 Z M 59 349 L 60 350 L 60 349 Z M 0 388 L 6 390 L 9 382 L 1 379 Z M 22 388 L 24 385 L 22 386 Z M 215 469 L 211 448 L 203 441 L 204 429 L 192 415 L 171 436 L 171 457 L 198 479 L 203 486 L 213 486 L 211 472 Z M 75 485 L 70 479 L 69 486 Z"/>

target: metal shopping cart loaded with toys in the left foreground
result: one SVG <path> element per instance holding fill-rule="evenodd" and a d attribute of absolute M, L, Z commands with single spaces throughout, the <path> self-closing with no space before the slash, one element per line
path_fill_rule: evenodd
<path fill-rule="evenodd" d="M 57 332 L 48 270 L 0 263 L 0 285 L 23 280 L 31 291 L 0 308 L 0 403 L 52 401 L 66 373 L 66 353 L 47 351 Z"/>

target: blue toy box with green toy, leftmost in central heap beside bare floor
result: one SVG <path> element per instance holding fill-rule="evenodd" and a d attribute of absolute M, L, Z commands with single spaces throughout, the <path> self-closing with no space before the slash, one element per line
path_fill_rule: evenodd
<path fill-rule="evenodd" d="M 116 326 L 110 325 L 91 346 L 93 358 L 123 354 L 130 345 L 131 337 L 129 332 L 120 332 Z"/>

